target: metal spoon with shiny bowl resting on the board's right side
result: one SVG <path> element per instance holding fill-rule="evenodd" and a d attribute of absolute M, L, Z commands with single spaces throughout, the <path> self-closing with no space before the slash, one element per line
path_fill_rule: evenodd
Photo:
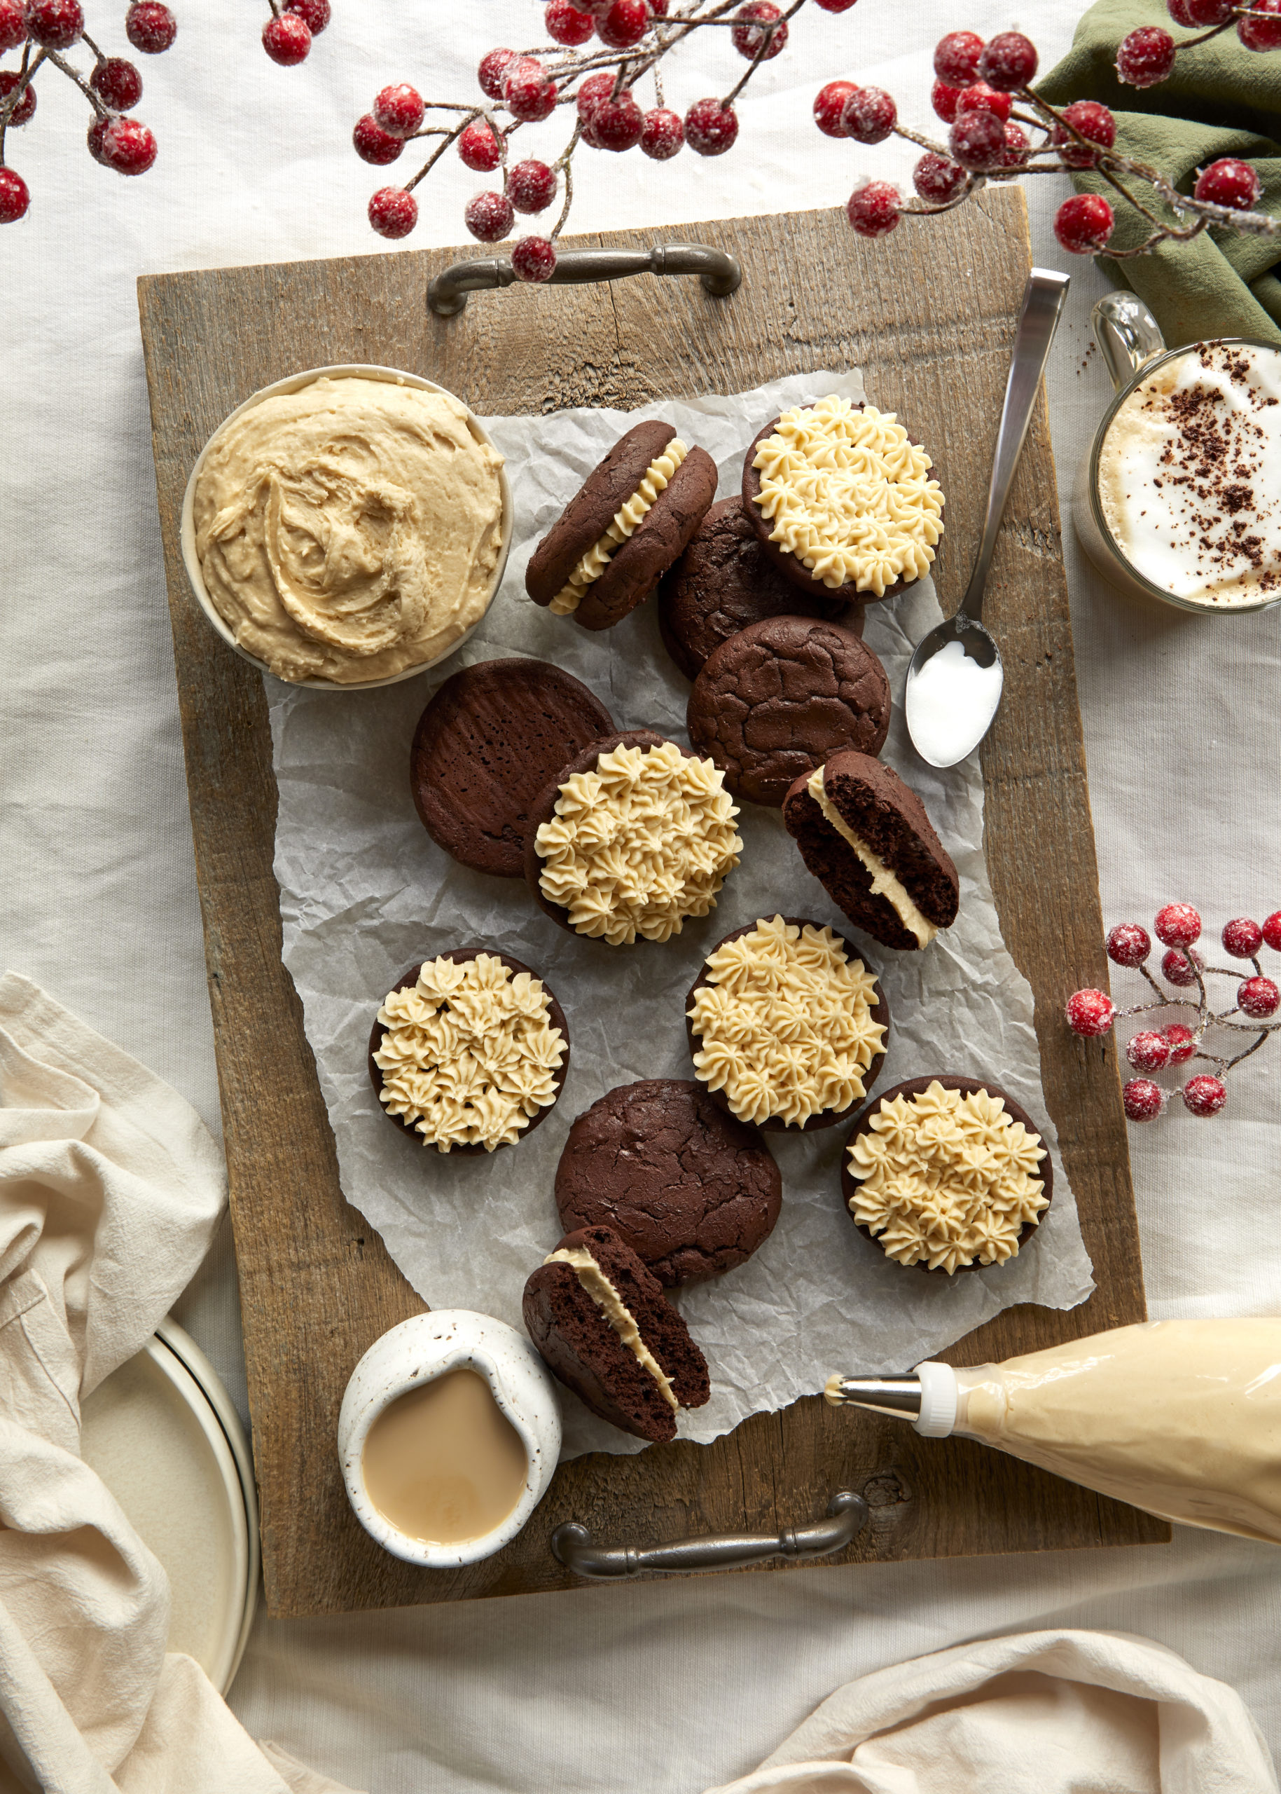
<path fill-rule="evenodd" d="M 1005 501 L 1010 497 L 1014 470 L 1019 465 L 1023 440 L 1032 422 L 1032 407 L 1037 400 L 1041 371 L 1050 355 L 1055 327 L 1068 292 L 1068 274 L 1057 274 L 1048 267 L 1033 267 L 1023 294 L 1019 328 L 1014 335 L 1014 359 L 1010 361 L 1010 379 L 1005 384 L 1005 407 L 1001 411 L 1001 429 L 996 436 L 996 457 L 992 459 L 992 483 L 987 490 L 987 517 L 983 518 L 983 540 L 978 545 L 974 572 L 969 576 L 965 597 L 954 617 L 937 624 L 917 646 L 908 667 L 904 691 L 904 709 L 908 712 L 908 734 L 922 761 L 931 766 L 954 766 L 972 753 L 983 736 L 992 727 L 1001 703 L 1001 685 L 1005 669 L 1001 649 L 983 628 L 983 588 L 987 570 L 992 563 L 992 549 L 1001 527 Z M 951 642 L 960 642 L 967 660 L 980 667 L 996 667 L 996 676 L 983 682 L 978 705 L 958 707 L 944 725 L 938 725 L 938 694 L 926 703 L 922 689 L 917 685 L 920 669 L 928 660 Z M 929 680 L 928 684 L 933 684 Z M 928 689 L 928 687 L 926 687 Z M 990 705 L 990 709 L 989 709 Z M 933 727 L 931 727 L 933 725 Z"/>

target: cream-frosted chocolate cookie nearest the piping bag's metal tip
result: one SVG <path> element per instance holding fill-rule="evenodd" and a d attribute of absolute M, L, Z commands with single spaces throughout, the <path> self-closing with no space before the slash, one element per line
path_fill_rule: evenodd
<path fill-rule="evenodd" d="M 841 1152 L 841 1197 L 886 1258 L 953 1276 L 1017 1256 L 1050 1207 L 1053 1166 L 1012 1096 L 940 1073 L 863 1109 Z"/>

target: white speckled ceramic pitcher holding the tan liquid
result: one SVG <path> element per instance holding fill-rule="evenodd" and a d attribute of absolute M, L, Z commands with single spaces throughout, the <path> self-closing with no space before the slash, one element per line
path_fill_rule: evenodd
<path fill-rule="evenodd" d="M 364 1487 L 362 1453 L 382 1410 L 411 1389 L 449 1371 L 477 1371 L 526 1448 L 520 1500 L 492 1532 L 456 1545 L 411 1539 L 373 1505 Z M 429 1570 L 458 1570 L 492 1557 L 515 1539 L 547 1493 L 560 1459 L 560 1405 L 551 1372 L 524 1333 L 468 1308 L 438 1308 L 384 1333 L 352 1371 L 337 1417 L 337 1455 L 355 1518 L 395 1557 Z"/>

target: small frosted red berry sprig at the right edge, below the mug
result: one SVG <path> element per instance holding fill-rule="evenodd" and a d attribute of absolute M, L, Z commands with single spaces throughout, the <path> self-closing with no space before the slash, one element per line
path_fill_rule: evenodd
<path fill-rule="evenodd" d="M 1224 1084 L 1227 1073 L 1234 1066 L 1240 1066 L 1243 1058 L 1249 1058 L 1250 1053 L 1258 1053 L 1270 1033 L 1281 1030 L 1281 1021 L 1274 1023 L 1270 1019 L 1281 1008 L 1281 988 L 1272 978 L 1263 976 L 1263 967 L 1258 960 L 1259 947 L 1265 944 L 1274 953 L 1281 953 L 1281 910 L 1270 915 L 1263 926 L 1250 922 L 1249 917 L 1236 917 L 1236 920 L 1227 922 L 1224 927 L 1224 953 L 1233 960 L 1249 960 L 1254 967 L 1249 978 L 1242 978 L 1240 967 L 1206 965 L 1195 945 L 1200 940 L 1200 915 L 1188 902 L 1168 902 L 1164 910 L 1157 911 L 1152 924 L 1152 931 L 1166 949 L 1161 958 L 1161 976 L 1175 992 L 1195 987 L 1197 1001 L 1163 990 L 1146 967 L 1146 960 L 1152 954 L 1152 936 L 1137 922 L 1121 922 L 1112 929 L 1107 936 L 1107 956 L 1114 965 L 1127 965 L 1139 971 L 1152 987 L 1155 1003 L 1136 1003 L 1132 1008 L 1120 1010 L 1105 990 L 1076 990 L 1068 997 L 1068 1026 L 1084 1039 L 1111 1033 L 1112 1024 L 1125 1015 L 1146 1015 L 1159 1008 L 1188 1008 L 1197 1012 L 1191 1026 L 1172 1023 L 1161 1030 L 1143 1028 L 1130 1037 L 1125 1057 L 1134 1071 L 1145 1073 L 1145 1076 L 1130 1078 L 1121 1091 L 1125 1112 L 1130 1121 L 1152 1121 L 1164 1112 L 1170 1102 L 1170 1093 L 1154 1084 L 1146 1073 L 1164 1071 L 1170 1066 L 1186 1066 L 1193 1058 L 1204 1060 L 1204 1064 L 1215 1069 L 1213 1073 L 1195 1073 L 1190 1076 L 1179 1094 L 1191 1114 L 1216 1116 L 1227 1102 L 1227 1085 Z M 1238 980 L 1233 1008 L 1220 1010 L 1218 1014 L 1211 1010 L 1206 994 L 1207 978 Z M 1238 1053 L 1213 1053 L 1206 1042 L 1211 1028 L 1238 1035 L 1247 1033 L 1254 1035 L 1254 1039 Z"/>

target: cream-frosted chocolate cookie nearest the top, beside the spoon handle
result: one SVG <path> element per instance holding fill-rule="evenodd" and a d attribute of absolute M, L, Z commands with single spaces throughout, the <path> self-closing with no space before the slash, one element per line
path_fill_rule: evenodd
<path fill-rule="evenodd" d="M 757 431 L 743 459 L 743 509 L 802 592 L 870 605 L 929 570 L 944 508 L 929 466 L 893 414 L 832 395 Z"/>

